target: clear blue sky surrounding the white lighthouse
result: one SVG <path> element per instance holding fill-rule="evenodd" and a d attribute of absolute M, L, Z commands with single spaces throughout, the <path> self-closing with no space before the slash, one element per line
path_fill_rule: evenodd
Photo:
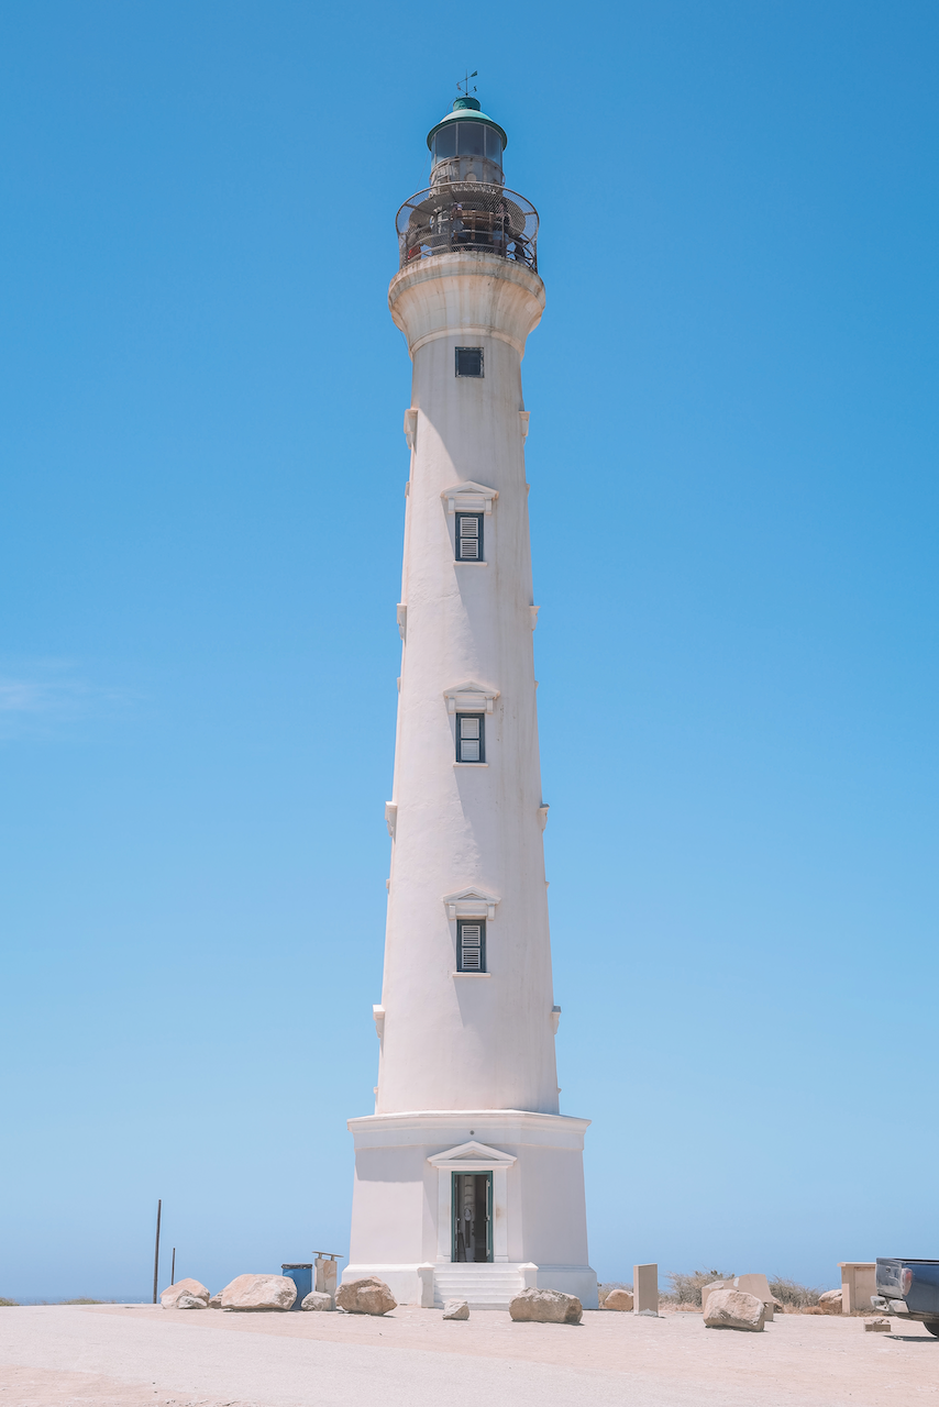
<path fill-rule="evenodd" d="M 909 0 L 0 4 L 0 1294 L 148 1296 L 158 1197 L 213 1289 L 348 1251 L 408 469 L 386 288 L 466 66 L 542 217 L 593 1263 L 939 1255 L 938 39 Z"/>

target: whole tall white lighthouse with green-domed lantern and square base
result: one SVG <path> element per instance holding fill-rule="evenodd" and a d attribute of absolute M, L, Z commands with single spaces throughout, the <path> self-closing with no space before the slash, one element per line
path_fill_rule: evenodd
<path fill-rule="evenodd" d="M 538 215 L 476 98 L 428 135 L 398 214 L 391 317 L 414 363 L 401 678 L 374 1114 L 355 1137 L 344 1279 L 400 1303 L 597 1304 L 583 1138 L 559 1113 L 521 359 Z"/>

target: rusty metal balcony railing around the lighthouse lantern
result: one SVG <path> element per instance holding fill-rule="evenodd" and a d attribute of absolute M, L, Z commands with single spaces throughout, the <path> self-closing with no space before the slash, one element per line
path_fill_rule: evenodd
<path fill-rule="evenodd" d="M 538 211 L 503 186 L 439 184 L 407 200 L 397 217 L 401 269 L 463 249 L 538 270 Z"/>

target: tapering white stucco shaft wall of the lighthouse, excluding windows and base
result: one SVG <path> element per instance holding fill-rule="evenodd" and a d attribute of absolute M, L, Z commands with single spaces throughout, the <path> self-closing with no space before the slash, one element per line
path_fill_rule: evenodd
<path fill-rule="evenodd" d="M 400 273 L 389 301 L 414 356 L 417 438 L 376 1112 L 556 1113 L 519 415 L 521 353 L 543 286 L 496 256 L 446 255 Z M 483 348 L 481 378 L 455 376 L 458 346 Z M 484 566 L 455 560 L 455 515 L 441 494 L 465 481 L 498 494 Z M 445 691 L 467 681 L 498 691 L 486 767 L 455 765 Z M 455 975 L 456 922 L 443 905 L 472 886 L 498 899 L 486 976 Z"/>

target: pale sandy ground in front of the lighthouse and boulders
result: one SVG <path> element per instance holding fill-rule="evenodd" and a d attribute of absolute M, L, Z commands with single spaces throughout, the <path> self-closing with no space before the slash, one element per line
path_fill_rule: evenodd
<path fill-rule="evenodd" d="M 0 1407 L 939 1407 L 939 1339 L 893 1328 L 800 1314 L 739 1334 L 700 1314 L 593 1313 L 570 1327 L 418 1309 L 3 1309 Z"/>

